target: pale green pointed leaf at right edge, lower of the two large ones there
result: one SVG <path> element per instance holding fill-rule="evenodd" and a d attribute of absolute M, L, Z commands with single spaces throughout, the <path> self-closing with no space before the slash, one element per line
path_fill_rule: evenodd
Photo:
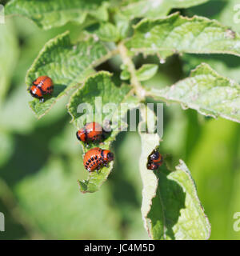
<path fill-rule="evenodd" d="M 178 102 L 200 114 L 220 116 L 240 122 L 240 86 L 222 77 L 203 63 L 193 70 L 189 78 L 162 90 L 152 89 L 150 95 L 164 101 Z"/>

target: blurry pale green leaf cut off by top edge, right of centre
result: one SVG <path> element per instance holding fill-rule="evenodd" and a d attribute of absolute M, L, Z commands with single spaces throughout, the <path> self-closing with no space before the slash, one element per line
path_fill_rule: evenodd
<path fill-rule="evenodd" d="M 129 0 L 122 6 L 122 14 L 128 18 L 159 18 L 166 16 L 171 9 L 198 6 L 208 0 Z"/>

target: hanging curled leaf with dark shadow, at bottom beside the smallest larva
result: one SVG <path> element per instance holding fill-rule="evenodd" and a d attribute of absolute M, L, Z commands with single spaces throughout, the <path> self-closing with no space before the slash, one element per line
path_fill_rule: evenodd
<path fill-rule="evenodd" d="M 139 124 L 139 130 L 145 122 Z M 207 239 L 210 223 L 199 202 L 190 171 L 182 160 L 176 170 L 166 163 L 158 170 L 146 168 L 149 154 L 159 145 L 158 134 L 140 132 L 142 154 L 142 218 L 152 239 Z M 166 159 L 165 159 L 166 162 Z"/>

